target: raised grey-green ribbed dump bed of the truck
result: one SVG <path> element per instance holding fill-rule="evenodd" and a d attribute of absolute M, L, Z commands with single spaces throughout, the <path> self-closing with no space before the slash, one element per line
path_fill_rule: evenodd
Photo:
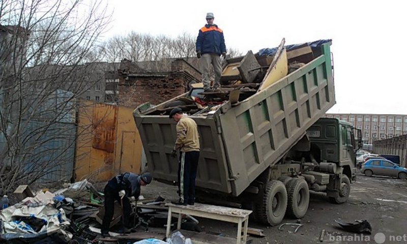
<path fill-rule="evenodd" d="M 270 68 L 261 89 L 238 103 L 226 100 L 211 109 L 188 105 L 201 140 L 197 188 L 239 196 L 335 104 L 330 45 L 312 47 L 309 63 L 264 86 L 267 76 L 279 72 Z M 171 157 L 176 123 L 168 118 L 168 107 L 186 97 L 155 107 L 143 104 L 133 112 L 148 169 L 158 180 L 177 181 L 178 159 Z"/>

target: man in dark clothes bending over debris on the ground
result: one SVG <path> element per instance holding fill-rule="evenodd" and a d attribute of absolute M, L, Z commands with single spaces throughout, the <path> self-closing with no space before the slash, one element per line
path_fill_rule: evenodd
<path fill-rule="evenodd" d="M 109 226 L 114 214 L 114 200 L 123 204 L 123 232 L 130 233 L 131 205 L 129 197 L 136 200 L 140 196 L 140 186 L 150 184 L 152 176 L 150 173 L 142 175 L 126 172 L 114 176 L 107 182 L 104 190 L 105 195 L 105 216 L 102 222 L 102 236 L 109 236 Z"/>

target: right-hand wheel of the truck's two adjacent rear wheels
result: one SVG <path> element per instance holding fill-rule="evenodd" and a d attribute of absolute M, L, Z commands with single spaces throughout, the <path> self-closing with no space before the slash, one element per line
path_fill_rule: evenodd
<path fill-rule="evenodd" d="M 300 219 L 308 210 L 309 189 L 305 179 L 294 178 L 288 182 L 287 188 L 287 211 L 285 214 L 290 218 Z"/>

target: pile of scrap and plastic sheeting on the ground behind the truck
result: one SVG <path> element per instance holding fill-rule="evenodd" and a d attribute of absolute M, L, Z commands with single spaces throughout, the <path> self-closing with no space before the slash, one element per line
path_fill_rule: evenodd
<path fill-rule="evenodd" d="M 122 208 L 115 202 L 110 237 L 101 236 L 104 216 L 103 193 L 86 179 L 51 193 L 33 194 L 22 185 L 13 196 L 19 200 L 0 211 L 0 242 L 7 243 L 191 243 L 181 233 L 165 239 L 168 207 L 165 199 L 132 201 L 132 233 L 122 233 Z M 142 198 L 142 197 L 140 197 Z M 173 218 L 177 225 L 177 218 Z M 183 220 L 182 229 L 200 231 L 193 217 Z M 175 227 L 174 227 L 175 228 Z M 179 239 L 184 242 L 180 242 Z M 178 240 L 176 240 L 178 239 Z M 172 242 L 171 242 L 172 240 Z M 46 241 L 46 242 L 44 242 Z M 189 240 L 190 241 L 190 240 Z"/>

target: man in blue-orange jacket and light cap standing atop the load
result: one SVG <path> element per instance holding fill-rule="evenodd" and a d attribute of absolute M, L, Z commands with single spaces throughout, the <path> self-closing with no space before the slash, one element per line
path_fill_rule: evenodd
<path fill-rule="evenodd" d="M 222 66 L 220 64 L 220 55 L 226 57 L 226 45 L 223 37 L 223 31 L 213 23 L 213 13 L 207 13 L 207 24 L 199 29 L 196 38 L 196 56 L 201 58 L 202 83 L 203 90 L 211 90 L 211 64 L 215 71 L 215 81 L 213 89 L 220 87 L 220 76 L 222 75 Z"/>

